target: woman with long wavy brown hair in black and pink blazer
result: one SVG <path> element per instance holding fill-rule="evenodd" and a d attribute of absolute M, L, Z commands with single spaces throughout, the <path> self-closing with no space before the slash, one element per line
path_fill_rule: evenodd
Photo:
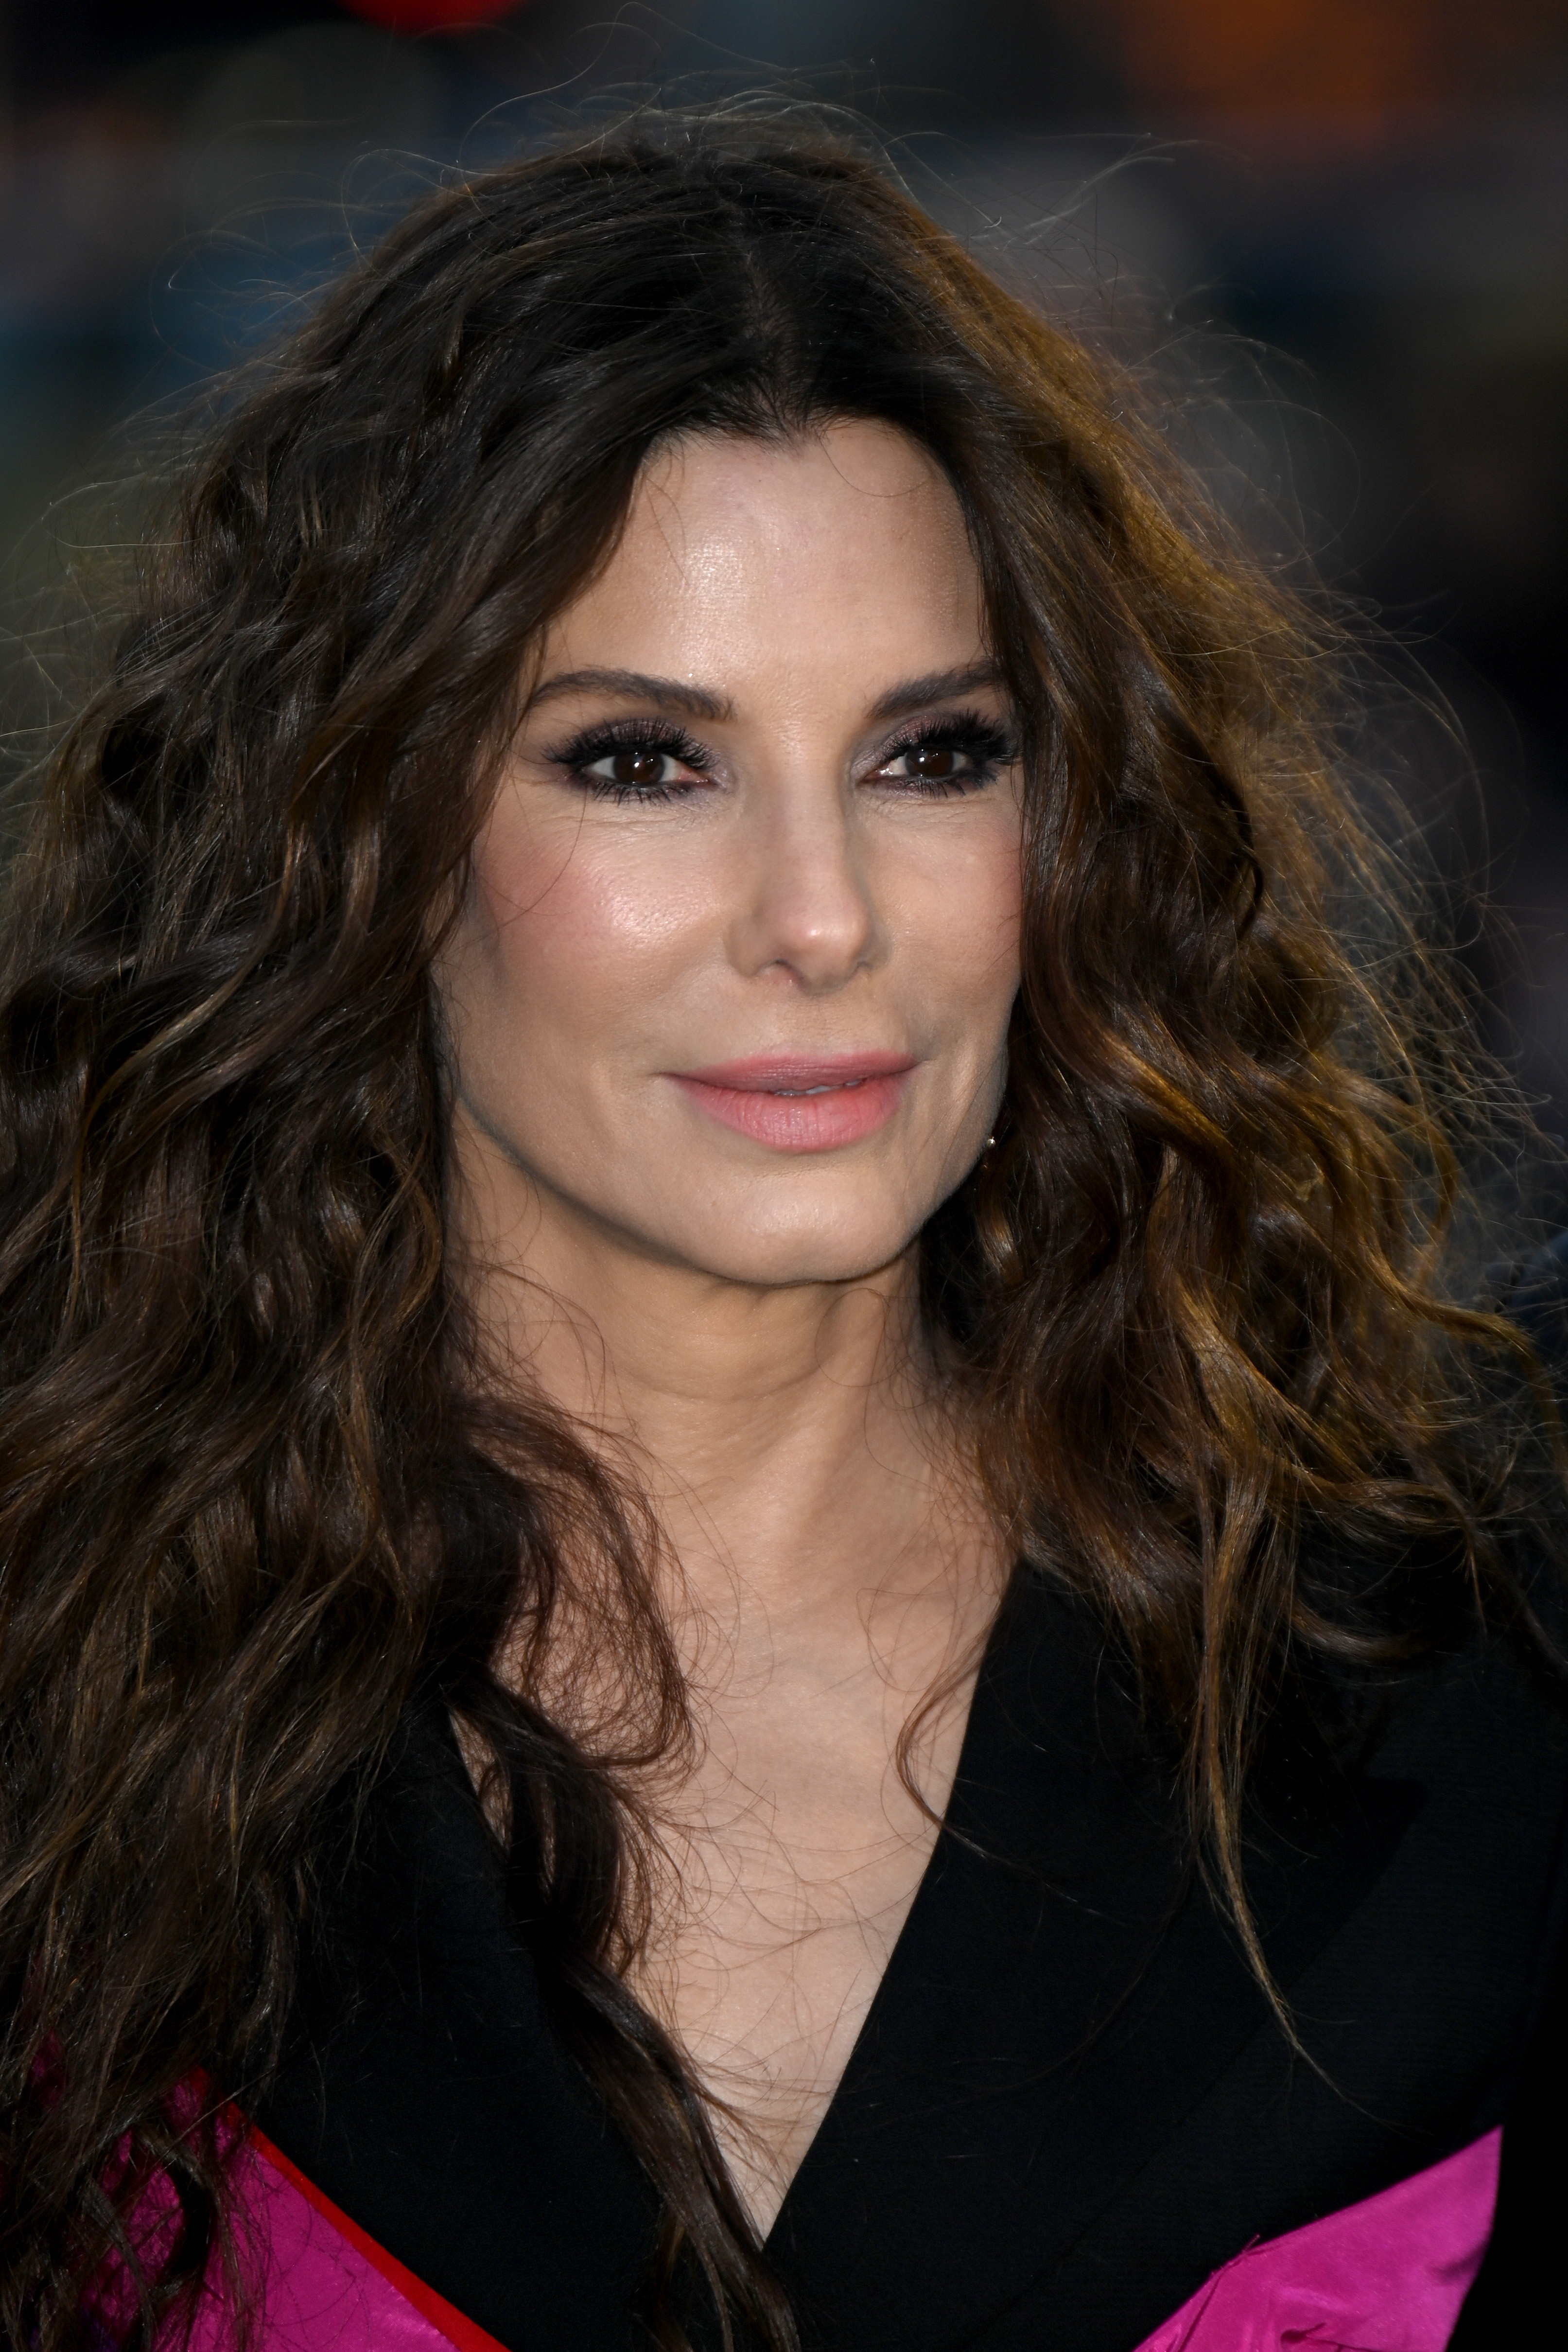
<path fill-rule="evenodd" d="M 792 120 L 228 407 L 9 922 L 9 2340 L 1448 2340 L 1559 1472 L 1331 654 Z"/>

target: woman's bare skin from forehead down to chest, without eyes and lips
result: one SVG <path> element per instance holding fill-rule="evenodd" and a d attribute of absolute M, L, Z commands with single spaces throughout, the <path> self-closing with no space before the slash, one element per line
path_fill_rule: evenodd
<path fill-rule="evenodd" d="M 990 762 L 910 750 L 973 720 Z M 607 793 L 623 741 L 581 771 L 604 722 L 684 731 L 639 755 L 665 797 Z M 924 452 L 875 423 L 665 449 L 545 637 L 442 967 L 454 1237 L 489 1341 L 632 1463 L 668 1534 L 698 1743 L 658 1790 L 635 1980 L 764 2232 L 924 1872 L 1001 1578 L 914 1242 L 1006 1077 L 1009 724 Z M 835 1148 L 736 1131 L 677 1082 L 867 1051 L 907 1070 Z M 896 1745 L 931 1691 L 926 1811 Z"/>

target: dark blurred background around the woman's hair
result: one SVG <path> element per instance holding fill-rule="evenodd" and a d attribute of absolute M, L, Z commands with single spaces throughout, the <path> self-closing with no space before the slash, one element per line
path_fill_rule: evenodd
<path fill-rule="evenodd" d="M 1387 760 L 1495 1042 L 1561 1129 L 1563 0 L 5 0 L 12 750 L 49 684 L 19 616 L 89 560 L 129 421 L 442 169 L 585 103 L 780 73 L 870 113 L 980 249 L 1023 238 L 1048 299 L 1159 355 L 1258 527 L 1300 534 L 1429 682 L 1467 750 L 1401 722 Z"/>

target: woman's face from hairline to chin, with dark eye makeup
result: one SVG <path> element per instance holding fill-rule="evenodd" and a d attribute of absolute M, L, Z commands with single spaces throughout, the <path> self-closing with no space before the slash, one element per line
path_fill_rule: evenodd
<path fill-rule="evenodd" d="M 891 1263 L 1001 1098 L 1018 835 L 931 459 L 877 423 L 668 449 L 475 847 L 463 1162 L 501 1214 L 733 1282 Z"/>

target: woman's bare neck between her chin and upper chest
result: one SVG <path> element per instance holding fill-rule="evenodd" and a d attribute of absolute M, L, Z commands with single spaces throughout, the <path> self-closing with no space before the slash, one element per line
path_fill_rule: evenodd
<path fill-rule="evenodd" d="M 461 1117 L 456 1145 L 454 1237 L 494 1362 L 630 1463 L 726 1644 L 842 1639 L 910 1578 L 973 1588 L 990 1545 L 914 1244 L 853 1282 L 731 1282 L 604 1230 Z"/>

